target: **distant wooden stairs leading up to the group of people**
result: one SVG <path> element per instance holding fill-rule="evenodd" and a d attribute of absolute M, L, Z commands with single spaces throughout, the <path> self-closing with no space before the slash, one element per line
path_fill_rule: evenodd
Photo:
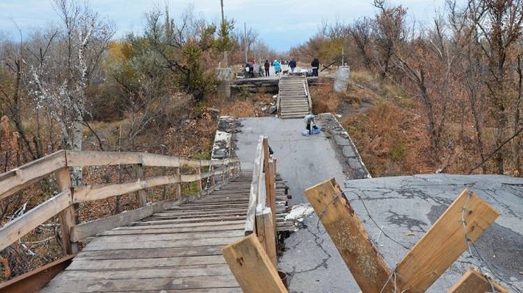
<path fill-rule="evenodd" d="M 310 113 L 311 102 L 306 77 L 282 77 L 278 86 L 278 110 L 281 118 L 303 118 Z"/>

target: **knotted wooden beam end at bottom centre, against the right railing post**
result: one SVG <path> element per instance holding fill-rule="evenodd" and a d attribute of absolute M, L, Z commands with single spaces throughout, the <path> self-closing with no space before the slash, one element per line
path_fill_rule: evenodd
<path fill-rule="evenodd" d="M 287 292 L 278 271 L 268 259 L 255 235 L 249 235 L 223 248 L 223 257 L 243 292 Z"/>

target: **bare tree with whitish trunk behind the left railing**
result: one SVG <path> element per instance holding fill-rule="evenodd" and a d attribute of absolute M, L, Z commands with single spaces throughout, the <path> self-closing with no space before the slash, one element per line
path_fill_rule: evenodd
<path fill-rule="evenodd" d="M 86 88 L 114 29 L 89 6 L 68 0 L 55 0 L 54 6 L 63 28 L 48 38 L 45 47 L 29 49 L 37 61 L 31 68 L 34 94 L 38 106 L 59 124 L 66 148 L 82 150 Z M 76 169 L 73 183 L 81 180 L 82 171 Z"/>

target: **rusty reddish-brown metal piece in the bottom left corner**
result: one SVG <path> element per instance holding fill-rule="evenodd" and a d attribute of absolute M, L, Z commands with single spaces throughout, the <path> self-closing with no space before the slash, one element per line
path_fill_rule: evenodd
<path fill-rule="evenodd" d="M 56 276 L 59 272 L 63 271 L 68 265 L 73 262 L 77 254 L 67 255 L 59 260 L 55 260 L 49 264 L 45 264 L 43 267 L 39 267 L 33 271 L 29 271 L 26 274 L 17 276 L 7 282 L 0 284 L 0 292 L 39 292 Z"/>

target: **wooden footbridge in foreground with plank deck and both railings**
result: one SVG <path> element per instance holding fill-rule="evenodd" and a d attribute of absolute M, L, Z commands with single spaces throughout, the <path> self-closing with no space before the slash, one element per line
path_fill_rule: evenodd
<path fill-rule="evenodd" d="M 285 182 L 276 175 L 275 159 L 270 158 L 266 146 L 266 139 L 260 138 L 253 171 L 242 172 L 236 159 L 202 161 L 145 153 L 60 151 L 3 173 L 0 199 L 50 175 L 56 175 L 61 192 L 1 228 L 0 249 L 58 216 L 70 264 L 59 265 L 66 267 L 61 272 L 50 264 L 1 284 L 0 290 L 241 292 L 222 256 L 223 246 L 252 233 L 271 235 L 265 238 L 272 237 L 267 253 L 275 262 L 276 231 L 289 230 L 290 226 L 285 223 Z M 70 167 L 118 164 L 135 165 L 138 171 L 146 167 L 174 168 L 176 175 L 71 186 Z M 183 174 L 187 170 L 192 174 Z M 137 173 L 143 176 L 143 170 Z M 183 182 L 196 184 L 199 192 L 182 196 Z M 167 184 L 176 187 L 179 196 L 149 203 L 144 190 Z M 76 223 L 76 203 L 132 192 L 137 193 L 142 205 L 138 209 Z M 78 251 L 80 241 L 86 246 Z"/>

